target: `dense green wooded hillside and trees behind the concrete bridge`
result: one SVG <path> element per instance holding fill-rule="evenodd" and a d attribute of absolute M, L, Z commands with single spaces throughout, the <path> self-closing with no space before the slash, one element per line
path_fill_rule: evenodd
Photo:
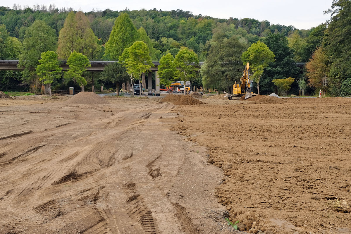
<path fill-rule="evenodd" d="M 199 61 L 205 62 L 193 78 L 193 83 L 199 86 L 223 90 L 238 81 L 244 68 L 241 54 L 260 41 L 275 55 L 260 78 L 262 94 L 275 90 L 273 79 L 293 77 L 296 81 L 306 80 L 306 91 L 310 94 L 327 89 L 332 95 L 351 95 L 348 59 L 351 3 L 334 0 L 331 4 L 326 11 L 331 15 L 329 21 L 301 30 L 292 25 L 270 24 L 267 20 L 218 19 L 180 9 L 126 8 L 82 13 L 71 8 L 58 9 L 55 5 L 0 7 L 0 58 L 19 59 L 21 66 L 27 68 L 23 72 L 0 71 L 0 90 L 28 90 L 36 79 L 33 69 L 41 52 L 55 51 L 59 59 L 67 59 L 68 52 L 74 49 L 90 60 L 118 60 L 117 55 L 129 44 L 115 48 L 111 36 L 124 32 L 125 37 L 130 37 L 124 38 L 126 41 L 144 41 L 154 61 L 168 53 L 176 56 L 184 47 L 191 49 Z M 124 13 L 132 22 L 128 27 L 116 25 Z M 77 35 L 70 39 L 73 31 Z M 39 57 L 33 55 L 33 51 L 40 52 Z M 31 56 L 34 62 L 28 61 Z M 35 56 L 38 58 L 34 59 Z M 306 63 L 306 66 L 300 69 L 295 63 Z M 102 78 L 104 85 L 109 86 L 108 80 Z M 63 83 L 62 78 L 53 85 L 67 87 L 67 83 L 62 86 Z M 298 83 L 294 82 L 290 93 L 298 94 L 298 90 Z"/>

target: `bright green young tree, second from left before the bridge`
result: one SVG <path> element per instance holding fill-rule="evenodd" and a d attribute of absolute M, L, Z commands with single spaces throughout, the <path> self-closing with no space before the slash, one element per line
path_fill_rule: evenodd
<path fill-rule="evenodd" d="M 82 53 L 73 51 L 67 59 L 68 71 L 65 73 L 65 79 L 73 79 L 77 81 L 84 92 L 84 86 L 87 85 L 86 79 L 83 77 L 87 67 L 91 67 L 89 59 Z"/>

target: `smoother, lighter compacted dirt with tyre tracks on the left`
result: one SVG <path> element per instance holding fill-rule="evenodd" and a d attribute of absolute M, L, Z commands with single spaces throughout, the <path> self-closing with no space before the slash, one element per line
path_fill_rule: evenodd
<path fill-rule="evenodd" d="M 223 173 L 170 130 L 173 105 L 16 99 L 0 99 L 0 233 L 233 232 Z"/>

